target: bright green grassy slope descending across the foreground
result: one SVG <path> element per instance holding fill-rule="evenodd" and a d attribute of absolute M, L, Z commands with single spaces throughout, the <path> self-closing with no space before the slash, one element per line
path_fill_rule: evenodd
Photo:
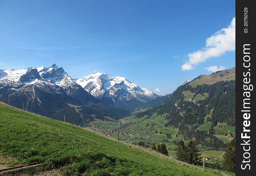
<path fill-rule="evenodd" d="M 40 170 L 57 168 L 63 175 L 229 175 L 208 168 L 202 172 L 202 167 L 1 102 L 0 150 L 19 164 L 43 163 Z"/>

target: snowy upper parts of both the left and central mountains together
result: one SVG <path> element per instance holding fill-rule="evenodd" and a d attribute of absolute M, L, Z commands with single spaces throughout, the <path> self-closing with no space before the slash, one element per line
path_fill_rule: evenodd
<path fill-rule="evenodd" d="M 53 94 L 74 98 L 76 103 L 88 100 L 118 105 L 122 107 L 136 106 L 159 97 L 152 91 L 140 88 L 124 77 L 110 77 L 97 71 L 82 78 L 72 79 L 62 67 L 53 64 L 50 67 L 29 67 L 22 70 L 0 70 L 0 83 L 5 93 L 20 92 L 34 85 L 42 89 L 58 89 Z M 8 84 L 8 86 L 7 86 Z M 81 87 L 81 86 L 82 87 Z M 10 92 L 9 92 L 10 91 Z M 96 98 L 97 99 L 96 99 Z M 98 100 L 99 99 L 99 100 Z"/>

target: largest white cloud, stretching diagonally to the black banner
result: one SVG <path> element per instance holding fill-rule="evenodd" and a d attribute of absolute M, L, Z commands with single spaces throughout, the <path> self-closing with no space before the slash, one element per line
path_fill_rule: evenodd
<path fill-rule="evenodd" d="M 189 53 L 189 60 L 182 65 L 181 70 L 192 70 L 198 63 L 205 62 L 211 57 L 219 57 L 227 51 L 235 50 L 235 17 L 227 28 L 222 28 L 206 39 L 205 48 Z"/>

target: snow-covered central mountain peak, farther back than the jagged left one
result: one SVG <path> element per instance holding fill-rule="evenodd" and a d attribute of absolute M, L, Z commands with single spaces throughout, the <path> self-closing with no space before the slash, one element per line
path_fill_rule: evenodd
<path fill-rule="evenodd" d="M 76 83 L 94 97 L 112 104 L 127 105 L 134 102 L 146 102 L 158 97 L 152 91 L 140 88 L 124 77 L 110 77 L 106 73 L 97 71 L 82 79 L 76 79 Z"/>

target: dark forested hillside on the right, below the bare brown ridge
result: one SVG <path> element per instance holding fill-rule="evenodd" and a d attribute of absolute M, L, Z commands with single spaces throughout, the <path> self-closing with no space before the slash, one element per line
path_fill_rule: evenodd
<path fill-rule="evenodd" d="M 166 114 L 164 126 L 178 128 L 178 136 L 182 135 L 185 140 L 194 139 L 196 145 L 205 148 L 224 150 L 223 139 L 235 136 L 226 130 L 235 126 L 235 80 L 193 87 L 190 84 L 178 87 L 165 104 L 136 117 Z"/>

